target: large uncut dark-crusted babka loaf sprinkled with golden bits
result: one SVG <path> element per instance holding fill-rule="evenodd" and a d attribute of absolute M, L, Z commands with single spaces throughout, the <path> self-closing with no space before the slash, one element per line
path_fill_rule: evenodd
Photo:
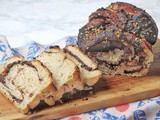
<path fill-rule="evenodd" d="M 79 30 L 78 46 L 104 74 L 143 76 L 153 61 L 157 35 L 156 23 L 148 13 L 116 2 L 89 16 Z"/>

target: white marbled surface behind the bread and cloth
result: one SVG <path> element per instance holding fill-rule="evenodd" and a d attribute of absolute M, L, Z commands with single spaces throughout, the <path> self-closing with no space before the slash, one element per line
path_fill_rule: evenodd
<path fill-rule="evenodd" d="M 77 35 L 88 16 L 117 0 L 0 0 L 0 34 L 11 47 Z M 119 0 L 120 1 L 120 0 Z M 160 0 L 123 0 L 146 10 L 160 29 Z M 160 34 L 159 34 L 160 37 Z"/>

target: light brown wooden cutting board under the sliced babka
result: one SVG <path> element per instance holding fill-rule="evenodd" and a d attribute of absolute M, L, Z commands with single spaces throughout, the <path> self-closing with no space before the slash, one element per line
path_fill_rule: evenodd
<path fill-rule="evenodd" d="M 103 89 L 95 95 L 45 108 L 31 115 L 21 114 L 0 94 L 0 119 L 55 119 L 160 95 L 160 41 L 153 46 L 154 62 L 145 77 L 104 76 Z"/>

